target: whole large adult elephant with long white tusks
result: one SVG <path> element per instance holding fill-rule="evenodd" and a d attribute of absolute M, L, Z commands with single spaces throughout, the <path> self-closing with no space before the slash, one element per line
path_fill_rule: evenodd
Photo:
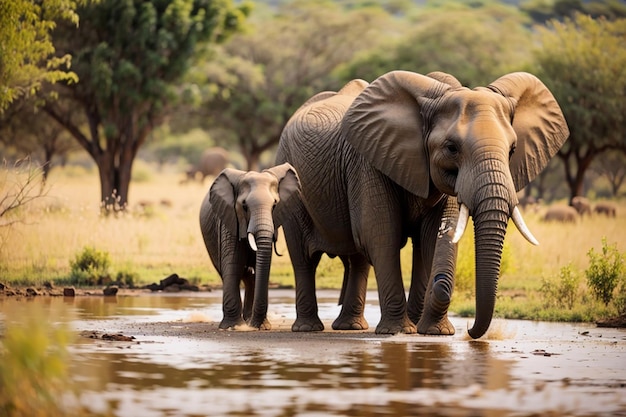
<path fill-rule="evenodd" d="M 516 191 L 568 134 L 554 97 L 528 73 L 470 90 L 449 74 L 393 71 L 309 99 L 285 126 L 276 159 L 295 167 L 304 196 L 305 212 L 284 224 L 296 277 L 292 330 L 323 328 L 314 278 L 325 252 L 348 259 L 350 303 L 333 328 L 359 328 L 371 264 L 381 308 L 377 333 L 453 334 L 447 309 L 456 242 L 471 215 L 476 319 L 469 334 L 482 336 L 493 316 L 509 218 L 536 243 Z M 408 238 L 407 309 L 400 249 Z"/>

